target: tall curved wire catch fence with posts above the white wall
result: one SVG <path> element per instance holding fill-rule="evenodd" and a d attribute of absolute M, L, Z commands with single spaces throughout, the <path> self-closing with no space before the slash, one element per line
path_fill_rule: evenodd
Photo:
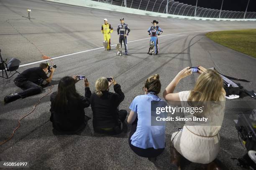
<path fill-rule="evenodd" d="M 229 11 L 209 9 L 192 6 L 174 0 L 94 0 L 111 5 L 145 10 L 171 15 L 200 17 L 200 18 L 225 18 L 225 19 L 256 19 L 256 12 Z M 126 4 L 125 4 L 126 2 Z M 246 15 L 245 15 L 246 14 Z"/>

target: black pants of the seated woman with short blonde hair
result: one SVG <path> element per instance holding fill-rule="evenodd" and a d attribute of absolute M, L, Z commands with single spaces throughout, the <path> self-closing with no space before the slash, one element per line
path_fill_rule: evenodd
<path fill-rule="evenodd" d="M 126 117 L 127 117 L 127 111 L 126 110 L 119 110 L 118 111 L 118 119 L 123 124 L 125 123 L 124 121 L 125 121 Z M 101 128 L 96 128 L 96 127 L 93 127 L 93 129 L 96 133 L 106 133 L 106 134 L 109 134 L 109 135 L 117 135 L 117 134 L 119 134 L 123 131 L 123 128 L 121 127 L 121 123 L 119 123 L 119 125 L 117 127 L 114 127 L 112 130 L 103 130 Z"/>

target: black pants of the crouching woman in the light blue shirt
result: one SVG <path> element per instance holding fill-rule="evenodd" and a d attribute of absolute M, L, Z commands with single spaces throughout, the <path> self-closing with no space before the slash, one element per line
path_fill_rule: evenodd
<path fill-rule="evenodd" d="M 131 144 L 131 136 L 136 132 L 137 123 L 138 123 L 138 117 L 136 117 L 136 120 L 134 120 L 134 122 L 132 123 L 132 126 L 131 126 L 131 132 L 130 132 L 130 135 L 129 135 L 129 138 L 128 138 L 130 148 L 133 150 L 134 153 L 136 153 L 137 155 L 139 155 L 141 157 L 156 158 L 158 155 L 160 155 L 164 151 L 164 148 L 160 148 L 160 149 L 154 149 L 154 148 L 142 149 L 142 148 L 138 148 L 136 146 L 133 146 Z"/>

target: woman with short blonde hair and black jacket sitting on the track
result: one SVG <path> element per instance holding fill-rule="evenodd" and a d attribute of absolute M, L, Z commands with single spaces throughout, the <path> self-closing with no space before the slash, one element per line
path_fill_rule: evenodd
<path fill-rule="evenodd" d="M 109 86 L 114 84 L 114 91 L 109 92 Z M 100 77 L 96 83 L 96 92 L 91 97 L 93 113 L 93 129 L 96 133 L 118 134 L 123 130 L 123 122 L 127 116 L 126 110 L 118 110 L 119 104 L 124 100 L 121 86 L 113 77 L 110 82 L 106 77 Z"/>

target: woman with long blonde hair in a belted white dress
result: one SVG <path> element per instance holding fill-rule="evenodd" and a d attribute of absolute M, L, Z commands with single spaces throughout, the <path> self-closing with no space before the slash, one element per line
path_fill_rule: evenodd
<path fill-rule="evenodd" d="M 189 67 L 181 70 L 163 92 L 169 103 L 179 101 L 182 107 L 206 106 L 202 112 L 185 114 L 189 117 L 205 117 L 207 122 L 186 121 L 182 130 L 172 134 L 171 163 L 180 169 L 181 156 L 194 163 L 207 164 L 207 169 L 218 170 L 213 162 L 220 150 L 219 131 L 225 109 L 225 90 L 223 80 L 215 70 L 199 66 L 200 76 L 191 91 L 174 93 L 179 81 L 192 74 Z"/>

